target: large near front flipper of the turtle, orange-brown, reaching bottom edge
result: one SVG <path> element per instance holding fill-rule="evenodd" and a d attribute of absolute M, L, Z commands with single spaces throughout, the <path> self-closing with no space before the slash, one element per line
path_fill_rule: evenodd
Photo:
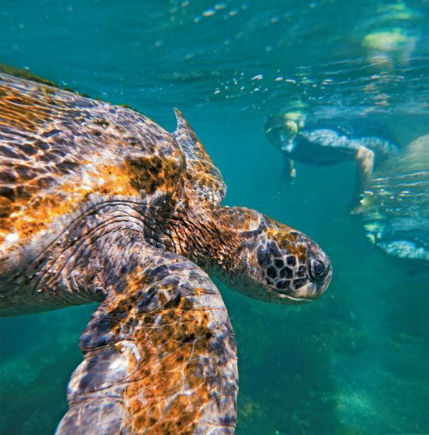
<path fill-rule="evenodd" d="M 216 286 L 182 256 L 145 248 L 80 347 L 57 434 L 233 433 L 233 329 Z"/>

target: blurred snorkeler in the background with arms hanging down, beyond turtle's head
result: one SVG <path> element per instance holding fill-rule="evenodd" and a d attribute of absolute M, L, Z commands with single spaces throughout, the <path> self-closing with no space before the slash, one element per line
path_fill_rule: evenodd
<path fill-rule="evenodd" d="M 347 160 L 357 163 L 357 182 L 353 205 L 357 203 L 374 165 L 399 153 L 391 140 L 378 136 L 362 136 L 342 127 L 341 123 L 317 121 L 305 123 L 295 112 L 269 116 L 265 134 L 284 159 L 284 179 L 296 177 L 294 161 L 318 166 L 330 166 Z"/>

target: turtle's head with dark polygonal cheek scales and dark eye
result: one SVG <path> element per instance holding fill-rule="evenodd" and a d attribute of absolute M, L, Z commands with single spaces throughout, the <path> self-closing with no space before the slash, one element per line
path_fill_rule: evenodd
<path fill-rule="evenodd" d="M 332 268 L 328 255 L 305 234 L 263 214 L 241 207 L 223 219 L 238 235 L 230 285 L 250 297 L 280 304 L 317 299 L 325 292 Z"/>

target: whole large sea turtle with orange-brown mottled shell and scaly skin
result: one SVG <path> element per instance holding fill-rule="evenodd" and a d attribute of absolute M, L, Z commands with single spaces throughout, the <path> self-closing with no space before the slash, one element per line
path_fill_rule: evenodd
<path fill-rule="evenodd" d="M 0 74 L 0 312 L 100 302 L 57 434 L 232 433 L 235 339 L 207 273 L 281 304 L 330 282 L 311 238 L 221 206 L 221 173 L 176 115 L 170 134 Z"/>

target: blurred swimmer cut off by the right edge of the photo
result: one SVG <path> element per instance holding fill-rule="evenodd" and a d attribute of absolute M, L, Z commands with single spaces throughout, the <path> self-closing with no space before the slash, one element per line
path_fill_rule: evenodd
<path fill-rule="evenodd" d="M 360 203 L 369 241 L 389 255 L 428 262 L 429 135 L 374 172 Z"/>

